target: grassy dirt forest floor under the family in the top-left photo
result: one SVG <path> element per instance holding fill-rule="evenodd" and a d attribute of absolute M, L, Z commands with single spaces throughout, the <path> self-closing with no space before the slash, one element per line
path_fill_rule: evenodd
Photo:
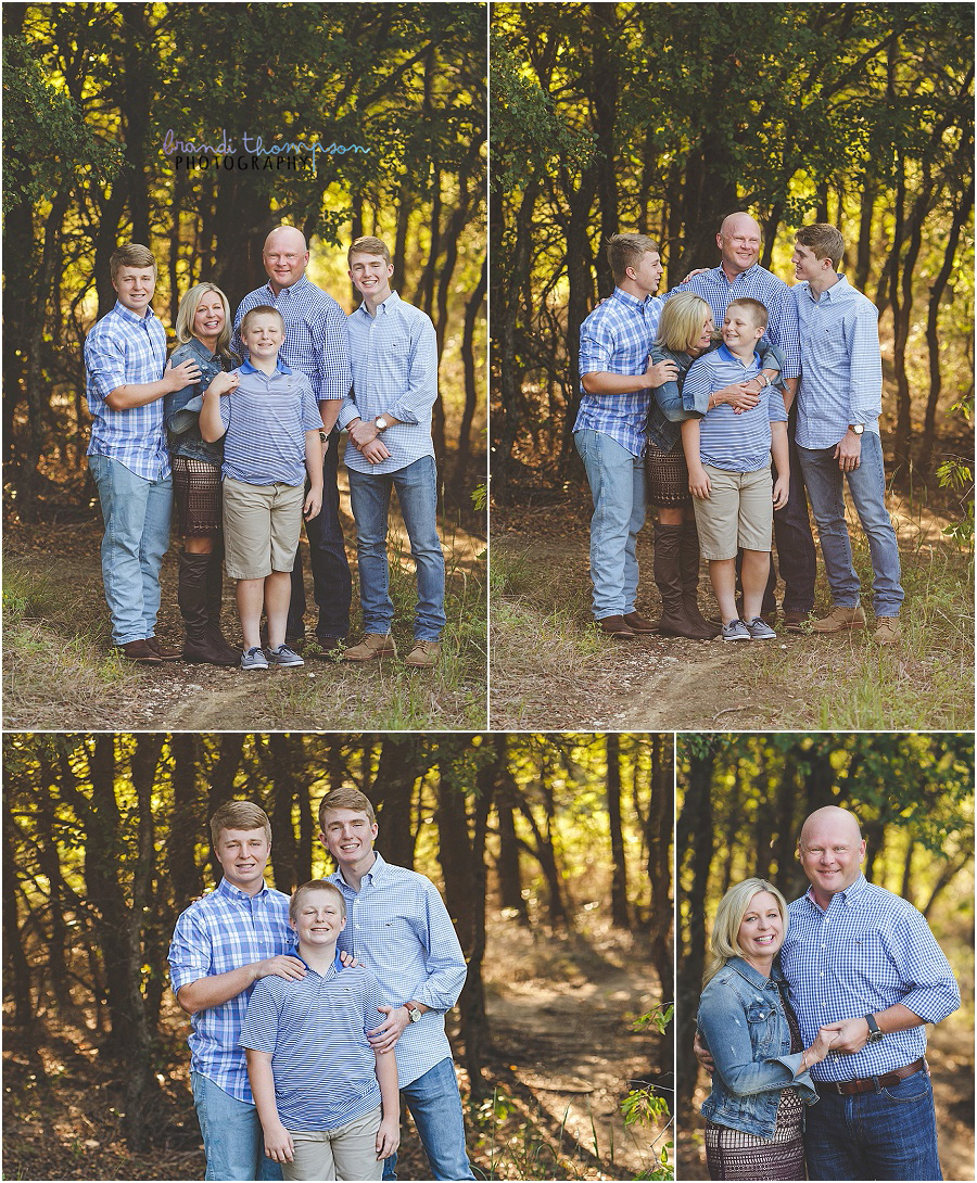
<path fill-rule="evenodd" d="M 343 529 L 360 635 L 355 526 L 342 490 Z M 468 522 L 471 515 L 466 515 Z M 477 730 L 486 722 L 485 538 L 460 522 L 442 534 L 447 564 L 441 660 L 431 673 L 402 658 L 412 645 L 414 564 L 396 498 L 390 512 L 390 589 L 399 657 L 364 665 L 306 660 L 304 667 L 245 673 L 185 661 L 134 666 L 110 647 L 97 509 L 33 528 L 8 524 L 4 562 L 4 725 L 7 730 Z M 306 547 L 303 537 L 303 548 Z M 176 606 L 179 539 L 163 561 L 158 635 L 182 644 Z M 306 628 L 315 627 L 305 560 Z M 240 635 L 234 584 L 225 581 L 222 626 Z M 315 642 L 306 641 L 315 647 Z M 300 646 L 299 646 L 300 647 Z"/>

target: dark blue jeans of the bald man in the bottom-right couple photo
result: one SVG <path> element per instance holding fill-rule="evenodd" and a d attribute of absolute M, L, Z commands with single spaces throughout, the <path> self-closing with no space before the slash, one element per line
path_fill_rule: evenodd
<path fill-rule="evenodd" d="M 943 1178 L 925 1071 L 874 1093 L 841 1097 L 820 1088 L 817 1095 L 804 1116 L 808 1178 Z"/>

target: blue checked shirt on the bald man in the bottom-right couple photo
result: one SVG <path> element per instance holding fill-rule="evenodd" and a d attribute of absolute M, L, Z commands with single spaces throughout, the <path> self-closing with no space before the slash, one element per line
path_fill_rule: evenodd
<path fill-rule="evenodd" d="M 813 888 L 790 905 L 781 967 L 804 1046 L 819 1027 L 876 1014 L 901 1002 L 927 1023 L 960 1004 L 950 963 L 912 904 L 859 875 L 836 892 L 827 910 Z M 918 1060 L 926 1030 L 889 1032 L 852 1054 L 828 1055 L 810 1071 L 815 1080 L 875 1077 Z"/>

